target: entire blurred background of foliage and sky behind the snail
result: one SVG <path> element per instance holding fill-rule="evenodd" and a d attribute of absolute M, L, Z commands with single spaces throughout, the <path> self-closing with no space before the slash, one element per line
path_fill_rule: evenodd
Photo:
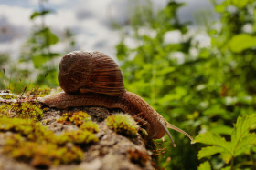
<path fill-rule="evenodd" d="M 254 0 L 0 0 L 0 89 L 57 87 L 61 55 L 101 51 L 121 66 L 126 89 L 196 136 L 229 140 L 255 113 Z M 197 169 L 202 144 L 176 132 L 157 141 L 159 169 Z M 167 140 L 167 138 L 166 138 Z M 255 145 L 213 169 L 256 168 Z M 155 155 L 157 156 L 157 155 Z M 225 156 L 224 156 L 225 157 Z M 248 164 L 243 164 L 248 163 Z"/>

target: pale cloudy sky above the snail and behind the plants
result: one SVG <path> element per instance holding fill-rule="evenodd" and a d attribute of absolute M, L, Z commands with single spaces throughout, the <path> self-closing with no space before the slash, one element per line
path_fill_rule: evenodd
<path fill-rule="evenodd" d="M 125 23 L 133 2 L 146 0 L 48 0 L 46 7 L 56 11 L 47 15 L 46 24 L 61 35 L 69 28 L 76 35 L 77 50 L 101 51 L 115 54 L 120 32 L 112 29 L 111 22 Z M 155 10 L 165 7 L 167 0 L 152 0 Z M 212 10 L 209 0 L 179 0 L 187 5 L 178 11 L 182 22 L 193 21 L 198 10 Z M 0 53 L 10 53 L 16 58 L 21 45 L 31 32 L 33 22 L 29 16 L 38 9 L 38 0 L 0 0 Z M 36 19 L 34 22 L 40 22 Z M 55 45 L 61 51 L 65 45 Z"/>

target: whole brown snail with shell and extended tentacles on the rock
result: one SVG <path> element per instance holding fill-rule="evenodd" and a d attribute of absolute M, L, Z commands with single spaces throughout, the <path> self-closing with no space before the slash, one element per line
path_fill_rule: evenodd
<path fill-rule="evenodd" d="M 121 70 L 108 55 L 84 51 L 64 55 L 59 63 L 58 80 L 64 92 L 39 98 L 41 103 L 59 109 L 75 106 L 120 108 L 146 121 L 145 130 L 153 139 L 162 138 L 166 133 L 176 146 L 167 129 L 171 128 L 193 141 L 186 132 L 165 121 L 139 95 L 125 90 Z"/>

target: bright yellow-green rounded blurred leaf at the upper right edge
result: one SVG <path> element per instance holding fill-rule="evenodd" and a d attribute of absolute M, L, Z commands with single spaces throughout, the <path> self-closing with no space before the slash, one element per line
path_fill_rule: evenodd
<path fill-rule="evenodd" d="M 229 41 L 229 48 L 234 53 L 240 53 L 251 47 L 256 47 L 256 36 L 247 34 L 234 35 Z"/>

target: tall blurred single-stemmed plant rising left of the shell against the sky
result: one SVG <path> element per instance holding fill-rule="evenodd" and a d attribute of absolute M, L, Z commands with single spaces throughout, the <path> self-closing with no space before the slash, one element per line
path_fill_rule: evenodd
<path fill-rule="evenodd" d="M 40 71 L 40 75 L 37 76 L 37 85 L 44 82 L 44 84 L 52 86 L 58 85 L 57 70 L 53 59 L 60 54 L 53 53 L 50 47 L 59 43 L 59 37 L 45 23 L 46 16 L 52 14 L 53 10 L 46 8 L 44 4 L 44 0 L 39 0 L 39 9 L 30 15 L 31 21 L 39 18 L 41 23 L 34 24 L 32 34 L 22 48 L 20 61 L 24 63 L 32 61 L 34 68 Z M 45 78 L 44 75 L 48 75 L 48 78 Z"/>

